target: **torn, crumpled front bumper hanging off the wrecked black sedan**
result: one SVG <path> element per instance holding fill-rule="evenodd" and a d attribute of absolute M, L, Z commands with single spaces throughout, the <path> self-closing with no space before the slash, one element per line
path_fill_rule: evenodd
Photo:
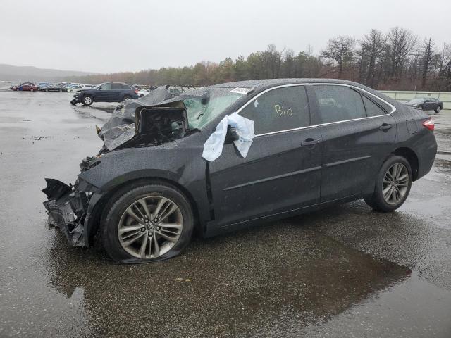
<path fill-rule="evenodd" d="M 45 179 L 47 187 L 42 190 L 48 200 L 44 201 L 49 225 L 58 227 L 73 246 L 89 246 L 94 226 L 92 212 L 101 198 L 99 189 L 80 179 L 68 185 L 51 178 Z"/>

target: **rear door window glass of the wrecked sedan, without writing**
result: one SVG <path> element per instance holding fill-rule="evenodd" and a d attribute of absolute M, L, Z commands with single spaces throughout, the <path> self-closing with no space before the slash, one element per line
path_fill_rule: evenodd
<path fill-rule="evenodd" d="M 347 86 L 313 86 L 318 99 L 321 123 L 332 123 L 354 118 L 366 118 L 359 92 Z"/>

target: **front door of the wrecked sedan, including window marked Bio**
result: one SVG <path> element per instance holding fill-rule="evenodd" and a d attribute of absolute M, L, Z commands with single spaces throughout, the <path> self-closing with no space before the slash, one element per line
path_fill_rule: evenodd
<path fill-rule="evenodd" d="M 239 111 L 254 121 L 246 158 L 233 144 L 209 164 L 219 227 L 319 203 L 321 134 L 303 86 L 272 89 Z"/>

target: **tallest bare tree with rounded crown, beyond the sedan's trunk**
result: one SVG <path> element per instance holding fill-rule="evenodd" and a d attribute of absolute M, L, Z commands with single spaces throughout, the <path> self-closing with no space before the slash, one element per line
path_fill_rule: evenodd
<path fill-rule="evenodd" d="M 402 67 L 416 45 L 417 37 L 400 27 L 392 28 L 387 34 L 386 53 L 390 61 L 390 77 L 399 77 Z"/>

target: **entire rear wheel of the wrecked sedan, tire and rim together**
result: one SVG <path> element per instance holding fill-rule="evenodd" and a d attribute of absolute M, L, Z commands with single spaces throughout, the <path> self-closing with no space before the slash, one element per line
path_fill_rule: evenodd
<path fill-rule="evenodd" d="M 411 187 L 412 168 L 409 162 L 402 156 L 391 156 L 379 170 L 373 194 L 364 200 L 371 208 L 388 213 L 404 204 Z"/>

